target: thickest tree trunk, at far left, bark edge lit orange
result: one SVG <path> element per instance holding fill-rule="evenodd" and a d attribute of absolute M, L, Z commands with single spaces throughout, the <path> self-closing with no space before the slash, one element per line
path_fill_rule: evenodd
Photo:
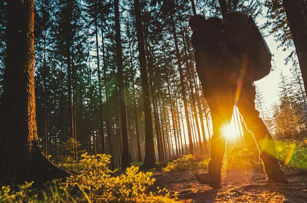
<path fill-rule="evenodd" d="M 34 93 L 34 1 L 8 2 L 7 58 L 0 142 L 1 184 L 41 183 L 69 173 L 43 155 Z"/>

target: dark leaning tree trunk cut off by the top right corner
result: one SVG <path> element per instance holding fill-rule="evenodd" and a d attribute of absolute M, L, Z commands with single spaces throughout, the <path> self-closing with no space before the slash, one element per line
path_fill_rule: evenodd
<path fill-rule="evenodd" d="M 282 2 L 286 10 L 305 91 L 307 92 L 307 22 L 304 8 L 300 0 L 283 0 Z"/>

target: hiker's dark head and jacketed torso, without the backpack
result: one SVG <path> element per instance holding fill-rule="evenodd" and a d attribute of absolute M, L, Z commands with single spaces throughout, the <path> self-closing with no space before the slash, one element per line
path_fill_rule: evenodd
<path fill-rule="evenodd" d="M 224 84 L 225 79 L 227 81 L 227 78 L 238 70 L 239 47 L 226 40 L 224 21 L 220 18 L 194 18 L 190 24 L 196 24 L 192 34 L 192 45 L 196 69 L 202 84 L 214 87 Z"/>

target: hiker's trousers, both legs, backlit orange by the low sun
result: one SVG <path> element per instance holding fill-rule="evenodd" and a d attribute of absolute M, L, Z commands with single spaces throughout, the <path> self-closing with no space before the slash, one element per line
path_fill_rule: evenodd
<path fill-rule="evenodd" d="M 211 139 L 209 174 L 221 178 L 221 169 L 226 149 L 227 138 L 223 132 L 223 126 L 231 121 L 233 108 L 236 106 L 243 116 L 246 127 L 253 133 L 253 137 L 259 149 L 259 157 L 264 165 L 267 176 L 274 176 L 280 168 L 276 159 L 275 142 L 267 129 L 264 121 L 259 117 L 255 109 L 256 90 L 252 82 L 242 86 L 229 85 L 223 88 L 211 89 L 210 96 L 206 98 L 211 112 L 213 135 Z"/>

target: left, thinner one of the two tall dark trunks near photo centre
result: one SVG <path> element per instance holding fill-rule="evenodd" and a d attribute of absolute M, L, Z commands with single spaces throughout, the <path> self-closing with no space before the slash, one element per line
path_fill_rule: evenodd
<path fill-rule="evenodd" d="M 119 21 L 119 8 L 118 0 L 114 1 L 115 7 L 115 41 L 116 41 L 116 61 L 118 70 L 118 89 L 119 89 L 119 103 L 121 109 L 121 123 L 122 123 L 122 168 L 129 166 L 129 149 L 128 149 L 128 123 L 127 123 L 127 106 L 126 95 L 124 87 L 124 73 L 123 73 L 123 58 L 122 58 L 122 45 L 120 38 L 120 21 Z"/>

